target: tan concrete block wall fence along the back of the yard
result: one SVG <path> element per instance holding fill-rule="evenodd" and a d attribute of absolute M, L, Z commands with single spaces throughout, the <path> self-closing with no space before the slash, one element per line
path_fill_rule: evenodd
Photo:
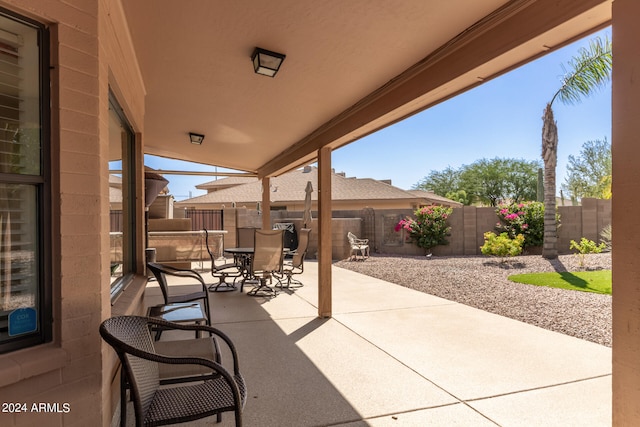
<path fill-rule="evenodd" d="M 558 228 L 558 252 L 571 253 L 571 240 L 579 241 L 582 237 L 600 241 L 602 230 L 611 224 L 611 200 L 583 199 L 581 206 L 558 206 L 560 227 Z M 405 241 L 404 231 L 396 232 L 395 225 L 405 216 L 411 216 L 413 210 L 381 210 L 365 208 L 353 211 L 334 211 L 332 219 L 332 253 L 334 260 L 349 256 L 347 232 L 358 237 L 369 239 L 371 253 L 387 255 L 424 255 L 423 249 Z M 318 248 L 318 222 L 312 223 L 309 242 L 309 258 L 315 258 Z M 258 211 L 237 208 L 228 209 L 224 213 L 225 246 L 235 246 L 236 227 L 260 227 L 261 216 Z M 498 222 L 495 208 L 464 206 L 454 208 L 449 217 L 451 236 L 449 244 L 437 246 L 432 252 L 435 256 L 480 255 L 480 246 L 484 243 L 484 233 L 495 231 Z M 302 212 L 273 211 L 271 222 L 291 222 L 296 230 L 302 228 Z M 536 248 L 529 254 L 539 254 Z"/>

